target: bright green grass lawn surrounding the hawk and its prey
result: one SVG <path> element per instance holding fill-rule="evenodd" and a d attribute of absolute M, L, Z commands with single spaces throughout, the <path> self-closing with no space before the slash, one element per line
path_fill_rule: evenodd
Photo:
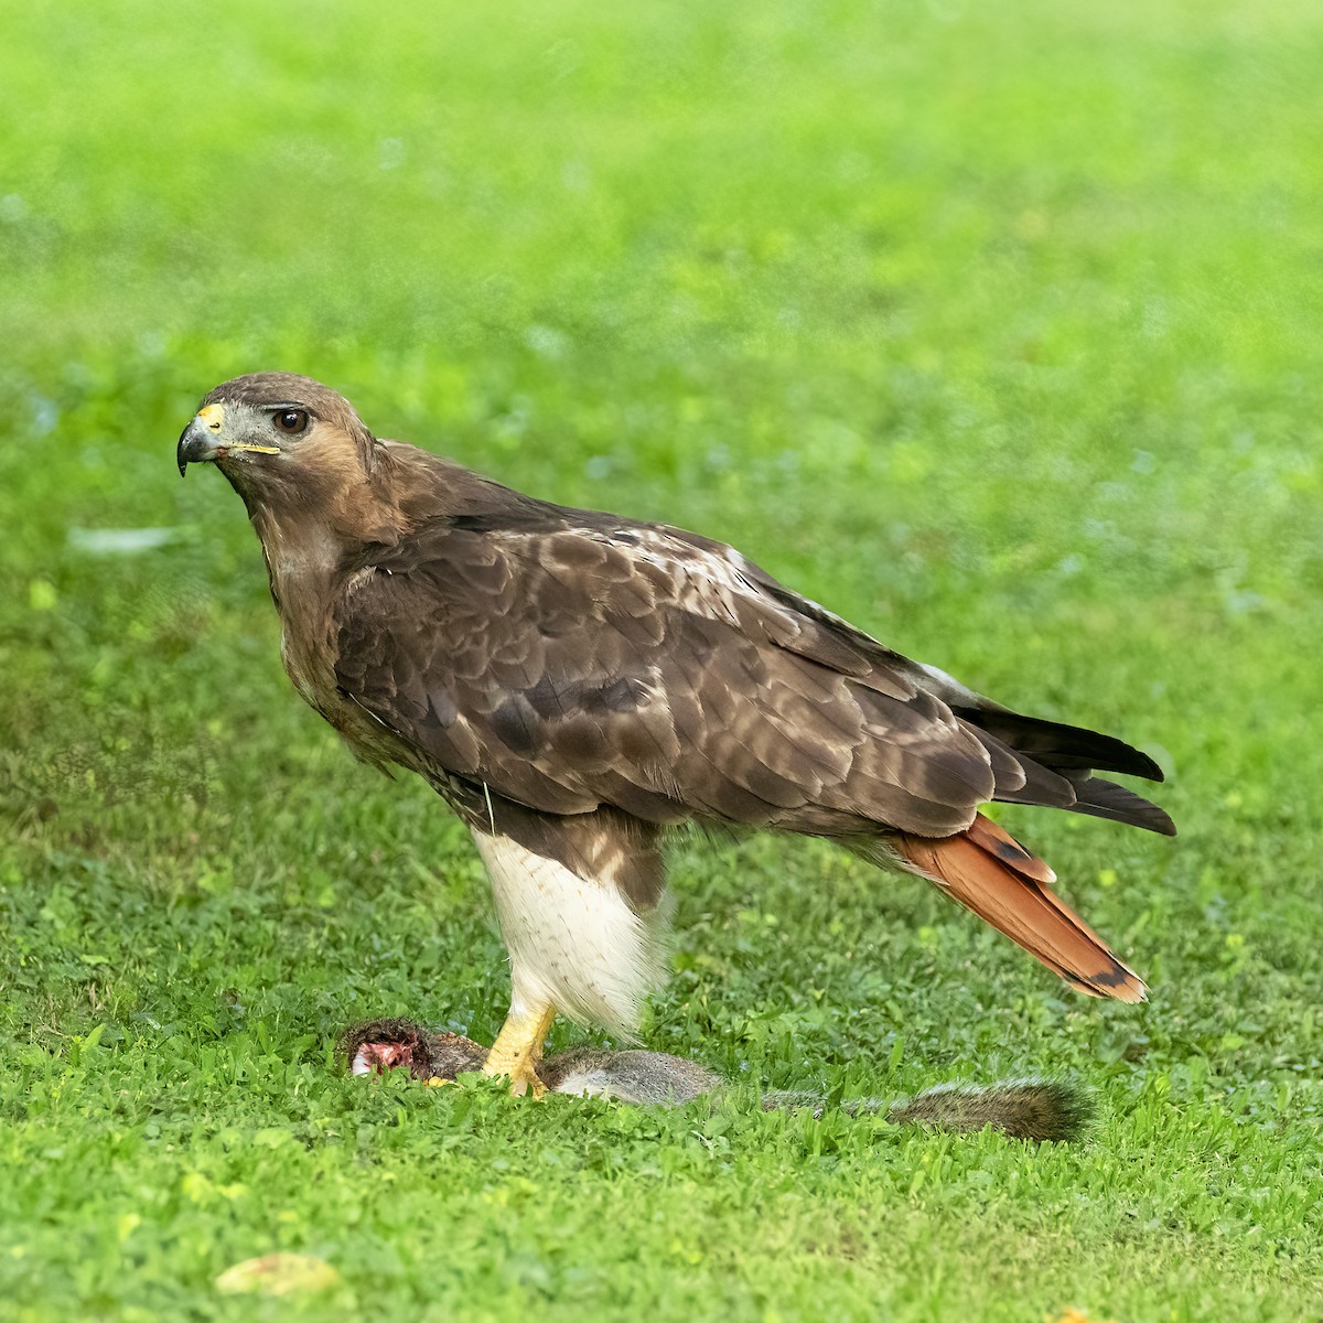
<path fill-rule="evenodd" d="M 1323 1314 L 1320 60 L 1308 0 L 0 11 L 0 1319 Z M 1091 1142 L 345 1078 L 347 1021 L 507 987 L 464 833 L 299 703 L 175 474 L 277 366 L 1155 750 L 1175 843 L 1003 815 L 1148 1005 L 688 843 L 646 1029 L 1074 1073 Z M 216 1291 L 273 1249 L 343 1286 Z"/>

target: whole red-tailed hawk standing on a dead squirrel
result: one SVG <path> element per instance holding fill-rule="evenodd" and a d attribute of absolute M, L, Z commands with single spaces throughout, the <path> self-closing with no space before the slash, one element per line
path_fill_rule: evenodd
<path fill-rule="evenodd" d="M 327 386 L 217 386 L 179 441 L 243 497 L 300 695 L 472 831 L 509 950 L 486 1069 L 515 1091 L 557 1011 L 628 1035 L 660 974 L 663 841 L 685 822 L 823 836 L 918 873 L 1076 988 L 1144 984 L 980 804 L 1174 833 L 1091 769 L 1110 736 L 1009 712 L 737 550 L 523 496 L 381 441 Z"/>

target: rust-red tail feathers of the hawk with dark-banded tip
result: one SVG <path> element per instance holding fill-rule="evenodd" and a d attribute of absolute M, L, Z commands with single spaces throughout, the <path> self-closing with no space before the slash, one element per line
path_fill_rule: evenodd
<path fill-rule="evenodd" d="M 1091 996 L 1143 1002 L 1144 983 L 1052 892 L 1056 875 L 982 814 L 945 840 L 901 835 L 892 844 L 947 896 L 1019 942 L 1035 959 Z"/>

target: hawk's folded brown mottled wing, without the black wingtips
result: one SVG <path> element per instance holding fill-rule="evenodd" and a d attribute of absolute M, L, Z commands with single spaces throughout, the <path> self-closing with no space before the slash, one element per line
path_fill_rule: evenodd
<path fill-rule="evenodd" d="M 419 765 L 546 812 L 823 835 L 949 835 L 992 796 L 988 741 L 737 553 L 545 509 L 438 521 L 356 576 L 339 684 Z"/>

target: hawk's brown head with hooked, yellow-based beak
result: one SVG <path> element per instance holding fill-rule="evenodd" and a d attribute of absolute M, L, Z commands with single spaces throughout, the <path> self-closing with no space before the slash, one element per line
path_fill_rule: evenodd
<path fill-rule="evenodd" d="M 202 400 L 176 458 L 181 475 L 214 463 L 251 508 L 307 504 L 361 483 L 376 445 L 344 396 L 294 372 L 254 372 Z"/>

